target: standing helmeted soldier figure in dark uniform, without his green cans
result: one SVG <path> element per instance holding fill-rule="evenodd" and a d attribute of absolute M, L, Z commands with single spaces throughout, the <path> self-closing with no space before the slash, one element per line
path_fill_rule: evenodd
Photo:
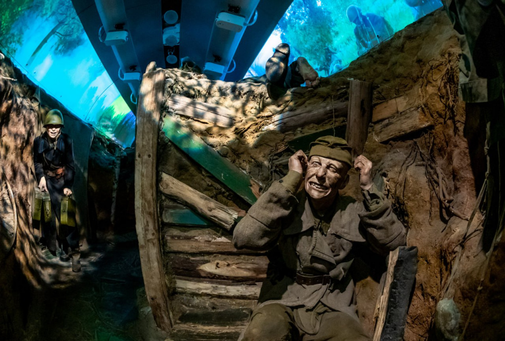
<path fill-rule="evenodd" d="M 61 130 L 64 127 L 60 110 L 47 112 L 45 132 L 33 141 L 33 163 L 38 187 L 51 197 L 51 221 L 43 222 L 42 237 L 47 249 L 56 256 L 61 248 L 60 260 L 72 258 L 72 270 L 81 270 L 79 252 L 79 229 L 60 225 L 62 197 L 72 195 L 74 183 L 74 146 L 72 139 Z"/>

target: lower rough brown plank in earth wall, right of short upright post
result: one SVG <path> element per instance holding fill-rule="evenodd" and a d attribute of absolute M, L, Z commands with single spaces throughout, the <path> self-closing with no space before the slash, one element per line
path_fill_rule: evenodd
<path fill-rule="evenodd" d="M 375 124 L 372 134 L 376 141 L 387 142 L 431 126 L 433 122 L 424 118 L 422 108 L 419 107 Z"/>

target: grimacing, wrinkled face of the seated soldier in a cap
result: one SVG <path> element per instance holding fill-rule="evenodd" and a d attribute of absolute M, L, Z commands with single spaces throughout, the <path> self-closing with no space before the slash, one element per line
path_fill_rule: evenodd
<path fill-rule="evenodd" d="M 313 200 L 333 200 L 348 182 L 346 164 L 322 156 L 312 156 L 305 175 L 305 191 Z"/>

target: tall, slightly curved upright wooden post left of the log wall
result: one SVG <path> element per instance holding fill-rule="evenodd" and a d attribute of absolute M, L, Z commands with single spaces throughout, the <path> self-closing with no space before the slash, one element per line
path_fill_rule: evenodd
<path fill-rule="evenodd" d="M 151 63 L 153 64 L 153 63 Z M 149 69 L 154 69 L 153 65 Z M 163 268 L 157 201 L 157 145 L 165 71 L 145 73 L 140 84 L 135 155 L 135 222 L 145 293 L 159 328 L 173 323 Z"/>

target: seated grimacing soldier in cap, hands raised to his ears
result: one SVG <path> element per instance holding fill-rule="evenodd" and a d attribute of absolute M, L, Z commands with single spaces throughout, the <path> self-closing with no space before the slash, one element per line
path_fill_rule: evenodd
<path fill-rule="evenodd" d="M 354 166 L 364 201 L 340 196 Z M 405 245 L 405 228 L 341 138 L 325 136 L 289 159 L 289 172 L 262 194 L 233 232 L 236 248 L 268 250 L 258 307 L 241 340 L 369 340 L 356 313 L 348 269 L 353 246 L 387 254 Z M 305 177 L 304 177 L 305 175 Z M 304 185 L 304 186 L 302 186 Z"/>

